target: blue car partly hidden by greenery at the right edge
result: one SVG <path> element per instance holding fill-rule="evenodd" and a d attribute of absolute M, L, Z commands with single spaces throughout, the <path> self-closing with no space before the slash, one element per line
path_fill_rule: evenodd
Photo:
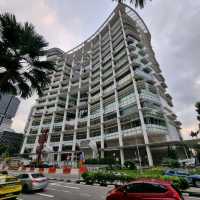
<path fill-rule="evenodd" d="M 190 175 L 188 172 L 186 172 L 184 170 L 170 169 L 165 172 L 165 175 L 178 176 L 178 177 L 185 178 L 185 180 L 187 180 L 187 182 L 190 185 L 192 185 L 194 187 L 200 187 L 200 175 L 198 175 L 198 174 Z"/>

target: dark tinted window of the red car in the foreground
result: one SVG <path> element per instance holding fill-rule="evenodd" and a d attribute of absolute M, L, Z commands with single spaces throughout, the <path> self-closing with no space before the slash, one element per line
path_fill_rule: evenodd
<path fill-rule="evenodd" d="M 135 183 L 127 185 L 126 191 L 128 193 L 164 193 L 167 189 L 154 183 Z"/>

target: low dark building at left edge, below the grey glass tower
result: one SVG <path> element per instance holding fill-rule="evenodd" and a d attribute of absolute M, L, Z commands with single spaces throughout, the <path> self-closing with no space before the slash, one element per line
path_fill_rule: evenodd
<path fill-rule="evenodd" d="M 7 130 L 0 131 L 0 146 L 8 146 L 8 150 L 11 156 L 15 156 L 20 153 L 23 140 L 24 134 Z"/>

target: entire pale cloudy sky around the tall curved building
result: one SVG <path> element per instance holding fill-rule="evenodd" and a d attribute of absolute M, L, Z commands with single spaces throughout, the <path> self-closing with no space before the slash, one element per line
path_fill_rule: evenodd
<path fill-rule="evenodd" d="M 31 22 L 49 47 L 68 51 L 91 36 L 115 6 L 112 0 L 0 0 L 0 13 Z M 173 110 L 188 138 L 197 130 L 194 104 L 200 101 L 200 1 L 147 0 L 145 8 L 136 11 L 150 30 Z M 17 132 L 23 132 L 35 98 L 21 100 L 13 123 Z"/>

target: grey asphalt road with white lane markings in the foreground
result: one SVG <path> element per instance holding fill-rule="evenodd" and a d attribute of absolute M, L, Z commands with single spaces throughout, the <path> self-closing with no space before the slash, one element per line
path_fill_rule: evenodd
<path fill-rule="evenodd" d="M 105 200 L 109 187 L 90 186 L 66 182 L 50 182 L 45 191 L 22 194 L 18 200 Z M 190 200 L 200 198 L 190 197 Z"/>

